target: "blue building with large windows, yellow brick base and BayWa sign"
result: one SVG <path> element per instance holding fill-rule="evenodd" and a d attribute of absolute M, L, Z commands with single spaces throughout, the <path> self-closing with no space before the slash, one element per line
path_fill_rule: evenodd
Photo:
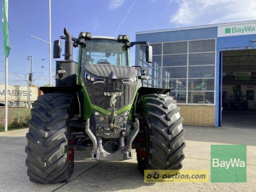
<path fill-rule="evenodd" d="M 177 100 L 184 124 L 221 126 L 223 86 L 227 84 L 229 89 L 242 84 L 255 88 L 255 29 L 256 21 L 244 21 L 137 32 L 136 41 L 148 41 L 153 46 L 153 63 L 145 61 L 145 45 L 136 47 L 135 63 L 148 69 L 149 74 L 143 84 L 170 88 L 169 94 Z M 223 62 L 227 67 L 223 67 Z M 248 81 L 238 81 L 237 76 L 237 81 L 223 83 L 223 72 L 241 75 L 244 70 L 250 74 Z M 228 101 L 229 108 L 232 102 Z M 250 105 L 254 108 L 254 104 Z"/>

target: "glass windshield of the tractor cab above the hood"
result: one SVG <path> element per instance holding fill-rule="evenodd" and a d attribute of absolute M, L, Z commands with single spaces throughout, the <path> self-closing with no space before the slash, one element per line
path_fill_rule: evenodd
<path fill-rule="evenodd" d="M 109 39 L 92 39 L 82 45 L 81 65 L 128 65 L 128 49 L 123 43 Z"/>

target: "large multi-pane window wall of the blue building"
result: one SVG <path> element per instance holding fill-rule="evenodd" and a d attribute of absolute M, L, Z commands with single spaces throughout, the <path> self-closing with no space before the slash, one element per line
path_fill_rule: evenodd
<path fill-rule="evenodd" d="M 145 45 L 139 48 L 139 65 L 150 76 L 144 86 L 171 89 L 168 94 L 178 103 L 214 104 L 215 39 L 150 45 L 151 64 L 145 61 Z"/>

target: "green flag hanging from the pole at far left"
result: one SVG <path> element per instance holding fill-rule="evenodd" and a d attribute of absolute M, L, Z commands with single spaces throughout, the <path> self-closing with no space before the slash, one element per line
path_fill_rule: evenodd
<path fill-rule="evenodd" d="M 3 0 L 3 36 L 4 36 L 4 55 L 5 59 L 8 57 L 11 47 L 9 46 L 8 37 L 8 22 L 7 22 L 7 10 L 8 10 L 8 0 Z"/>

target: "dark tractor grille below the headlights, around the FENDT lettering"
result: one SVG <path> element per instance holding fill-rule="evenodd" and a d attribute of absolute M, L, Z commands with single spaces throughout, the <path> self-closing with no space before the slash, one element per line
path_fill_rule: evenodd
<path fill-rule="evenodd" d="M 116 98 L 116 109 L 119 109 L 132 104 L 132 99 L 137 87 L 137 84 L 124 84 L 121 79 L 106 79 L 104 83 L 96 84 L 84 81 L 84 84 L 91 103 L 106 110 L 110 107 L 109 101 L 111 96 L 105 96 L 104 93 L 122 92 L 122 96 Z"/>

